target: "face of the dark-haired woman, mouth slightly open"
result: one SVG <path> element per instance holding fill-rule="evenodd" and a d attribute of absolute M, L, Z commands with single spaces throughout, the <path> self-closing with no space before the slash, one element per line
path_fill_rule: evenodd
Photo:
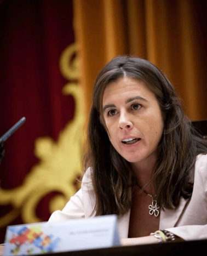
<path fill-rule="evenodd" d="M 103 120 L 118 153 L 131 163 L 154 163 L 164 121 L 156 96 L 140 80 L 123 77 L 103 93 Z"/>

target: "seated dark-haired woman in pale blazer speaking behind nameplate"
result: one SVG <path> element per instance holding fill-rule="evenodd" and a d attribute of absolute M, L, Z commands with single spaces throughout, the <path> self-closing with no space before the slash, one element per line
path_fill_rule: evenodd
<path fill-rule="evenodd" d="M 49 221 L 117 214 L 124 245 L 207 238 L 207 141 L 169 79 L 117 56 L 92 99 L 82 187 Z"/>

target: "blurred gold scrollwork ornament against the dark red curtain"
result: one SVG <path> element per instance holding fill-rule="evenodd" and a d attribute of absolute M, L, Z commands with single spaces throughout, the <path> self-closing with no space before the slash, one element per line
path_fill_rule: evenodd
<path fill-rule="evenodd" d="M 62 89 L 64 95 L 74 98 L 75 112 L 72 121 L 61 130 L 57 141 L 49 137 L 37 138 L 34 154 L 39 163 L 32 167 L 24 183 L 12 190 L 0 187 L 0 205 L 12 205 L 13 209 L 0 218 L 0 227 L 8 225 L 21 214 L 24 223 L 42 221 L 36 215 L 41 199 L 52 191 L 59 192 L 49 204 L 50 212 L 62 209 L 68 199 L 77 191 L 74 180 L 81 174 L 83 146 L 84 106 L 83 92 L 77 80 L 79 61 L 76 44 L 68 45 L 60 56 L 60 72 L 69 81 Z"/>

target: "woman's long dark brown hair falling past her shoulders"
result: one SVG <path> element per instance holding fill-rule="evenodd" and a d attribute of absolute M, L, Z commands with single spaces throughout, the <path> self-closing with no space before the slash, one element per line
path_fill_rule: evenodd
<path fill-rule="evenodd" d="M 148 184 L 153 182 L 161 208 L 174 209 L 181 196 L 192 195 L 193 183 L 189 177 L 196 156 L 207 153 L 207 141 L 193 128 L 168 77 L 151 62 L 124 55 L 113 58 L 103 67 L 93 89 L 84 167 L 91 167 L 95 215 L 124 214 L 131 207 L 131 165 L 114 149 L 102 122 L 103 92 L 107 84 L 124 76 L 145 82 L 156 95 L 165 116 L 155 172 Z"/>

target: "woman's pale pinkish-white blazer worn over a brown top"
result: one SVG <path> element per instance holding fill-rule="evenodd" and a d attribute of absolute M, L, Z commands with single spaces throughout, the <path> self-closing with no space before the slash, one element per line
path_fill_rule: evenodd
<path fill-rule="evenodd" d="M 207 239 L 207 155 L 197 156 L 192 197 L 181 198 L 174 210 L 160 211 L 159 229 L 166 229 L 186 241 Z M 80 190 L 70 198 L 62 211 L 55 211 L 48 221 L 94 217 L 95 194 L 90 168 L 85 172 Z M 130 211 L 118 216 L 120 238 L 128 237 Z M 155 230 L 154 230 L 155 231 Z"/>

